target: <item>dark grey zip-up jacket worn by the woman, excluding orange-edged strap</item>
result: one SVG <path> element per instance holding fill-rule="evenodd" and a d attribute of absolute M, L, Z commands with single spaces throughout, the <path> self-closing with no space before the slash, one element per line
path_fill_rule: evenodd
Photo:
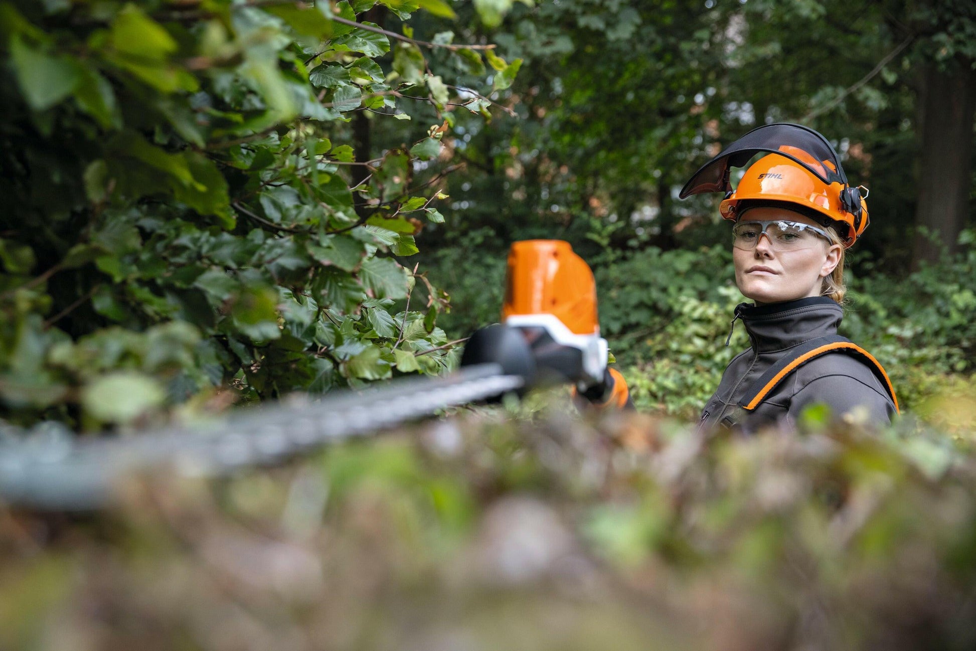
<path fill-rule="evenodd" d="M 737 416 L 737 405 L 766 369 L 793 346 L 835 335 L 843 318 L 840 305 L 827 297 L 761 306 L 743 303 L 736 307 L 735 314 L 745 325 L 752 347 L 725 369 L 718 390 L 702 412 L 702 427 L 719 425 L 723 419 L 742 418 L 741 411 Z M 887 425 L 895 414 L 887 391 L 864 362 L 842 352 L 831 352 L 793 371 L 741 427 L 750 431 L 779 420 L 793 424 L 799 413 L 814 403 L 827 404 L 835 417 L 867 409 L 869 421 L 875 426 Z M 724 425 L 728 426 L 729 420 Z"/>

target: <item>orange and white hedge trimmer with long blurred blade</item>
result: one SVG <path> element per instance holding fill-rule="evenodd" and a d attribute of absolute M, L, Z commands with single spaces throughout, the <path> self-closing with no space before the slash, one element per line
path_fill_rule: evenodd
<path fill-rule="evenodd" d="M 292 398 L 194 428 L 95 439 L 10 435 L 0 439 L 0 500 L 95 509 L 123 477 L 150 468 L 220 475 L 273 464 L 446 407 L 544 384 L 572 384 L 596 401 L 608 391 L 619 396 L 622 388 L 626 397 L 622 379 L 608 376 L 592 272 L 567 242 L 512 245 L 502 321 L 475 332 L 461 369 L 444 377 L 335 391 L 318 400 Z"/>

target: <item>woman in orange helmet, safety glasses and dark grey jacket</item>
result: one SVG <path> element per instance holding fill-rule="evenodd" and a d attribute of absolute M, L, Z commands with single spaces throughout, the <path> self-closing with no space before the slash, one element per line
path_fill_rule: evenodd
<path fill-rule="evenodd" d="M 729 166 L 773 151 L 730 190 Z M 794 422 L 813 404 L 834 417 L 888 424 L 898 407 L 887 375 L 867 351 L 836 336 L 844 251 L 867 227 L 868 212 L 833 147 L 798 125 L 760 127 L 699 170 L 681 196 L 721 189 L 728 193 L 719 211 L 735 222 L 736 285 L 754 302 L 736 307 L 732 327 L 741 320 L 751 346 L 725 369 L 702 427 Z"/>

